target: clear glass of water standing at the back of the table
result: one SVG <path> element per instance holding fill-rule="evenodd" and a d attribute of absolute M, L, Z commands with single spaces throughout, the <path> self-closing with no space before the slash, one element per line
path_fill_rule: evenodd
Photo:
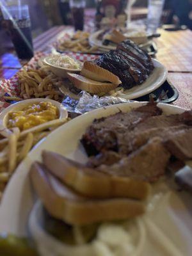
<path fill-rule="evenodd" d="M 154 34 L 159 27 L 164 0 L 148 0 L 147 33 Z"/>

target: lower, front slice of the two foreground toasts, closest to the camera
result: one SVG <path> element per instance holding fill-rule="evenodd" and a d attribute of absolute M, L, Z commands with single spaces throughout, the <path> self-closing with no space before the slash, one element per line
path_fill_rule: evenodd
<path fill-rule="evenodd" d="M 30 178 L 45 209 L 54 218 L 70 225 L 86 225 L 99 221 L 126 220 L 145 211 L 138 200 L 113 198 L 93 200 L 78 195 L 47 172 L 45 166 L 34 163 Z"/>

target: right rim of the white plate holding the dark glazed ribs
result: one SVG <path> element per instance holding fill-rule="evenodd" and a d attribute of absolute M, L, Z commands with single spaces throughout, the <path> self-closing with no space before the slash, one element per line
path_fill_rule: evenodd
<path fill-rule="evenodd" d="M 164 81 L 166 81 L 166 77 L 168 74 L 166 68 L 159 61 L 155 59 L 152 59 L 152 61 L 155 68 L 152 74 L 150 74 L 150 76 L 147 78 L 147 80 L 140 85 L 136 85 L 129 90 L 125 90 L 124 93 L 119 95 L 119 97 L 130 100 L 139 98 L 153 92 L 154 90 L 159 88 L 161 84 L 164 83 Z"/>

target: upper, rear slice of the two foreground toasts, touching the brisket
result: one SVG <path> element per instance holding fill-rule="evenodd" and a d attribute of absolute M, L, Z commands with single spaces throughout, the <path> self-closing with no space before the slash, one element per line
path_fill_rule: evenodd
<path fill-rule="evenodd" d="M 150 191 L 150 184 L 147 182 L 107 175 L 54 152 L 44 150 L 42 159 L 52 175 L 84 196 L 128 197 L 143 200 Z"/>

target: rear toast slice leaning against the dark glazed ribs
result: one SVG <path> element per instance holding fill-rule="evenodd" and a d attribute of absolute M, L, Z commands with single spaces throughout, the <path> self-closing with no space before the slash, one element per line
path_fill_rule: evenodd
<path fill-rule="evenodd" d="M 118 76 L 115 76 L 113 73 L 109 72 L 108 70 L 101 68 L 89 61 L 84 61 L 83 68 L 80 74 L 84 77 L 87 77 L 89 79 L 93 79 L 99 82 L 111 82 L 117 85 L 122 83 L 118 78 Z"/>

